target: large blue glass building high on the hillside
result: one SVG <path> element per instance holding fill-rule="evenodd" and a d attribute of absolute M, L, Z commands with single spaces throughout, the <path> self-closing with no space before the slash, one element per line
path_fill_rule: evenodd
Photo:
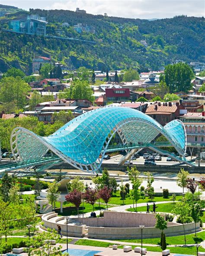
<path fill-rule="evenodd" d="M 47 23 L 45 17 L 28 15 L 26 18 L 11 20 L 9 22 L 9 29 L 16 33 L 45 36 Z"/>

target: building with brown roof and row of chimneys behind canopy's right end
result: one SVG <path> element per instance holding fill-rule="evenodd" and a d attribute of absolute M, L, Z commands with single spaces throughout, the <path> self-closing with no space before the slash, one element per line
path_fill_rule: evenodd
<path fill-rule="evenodd" d="M 145 113 L 164 126 L 170 121 L 177 119 L 180 110 L 183 109 L 185 108 L 179 102 L 158 102 L 157 104 L 150 104 Z"/>

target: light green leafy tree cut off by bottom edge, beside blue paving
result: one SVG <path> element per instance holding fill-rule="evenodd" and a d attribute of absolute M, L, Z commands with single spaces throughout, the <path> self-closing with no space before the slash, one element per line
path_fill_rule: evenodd
<path fill-rule="evenodd" d="M 45 243 L 45 240 L 48 240 Z M 55 246 L 51 243 L 52 240 L 55 240 L 56 243 L 60 243 L 60 236 L 56 233 L 55 230 L 48 228 L 48 232 L 43 231 L 38 233 L 34 237 L 30 237 L 26 240 L 26 246 L 28 248 L 29 255 L 35 256 L 68 256 L 68 253 L 62 253 L 62 246 Z"/>

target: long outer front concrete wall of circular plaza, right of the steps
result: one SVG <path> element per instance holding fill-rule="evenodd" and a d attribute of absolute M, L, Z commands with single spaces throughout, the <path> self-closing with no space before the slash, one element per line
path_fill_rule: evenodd
<path fill-rule="evenodd" d="M 185 233 L 194 233 L 195 224 L 189 223 L 185 224 Z M 200 231 L 199 223 L 196 225 L 197 231 Z M 164 230 L 167 237 L 183 235 L 183 225 L 174 225 L 167 227 Z M 161 231 L 155 227 L 144 227 L 143 237 L 144 238 L 153 238 L 160 237 Z M 113 227 L 88 227 L 88 237 L 95 239 L 108 239 L 108 240 L 117 240 L 117 239 L 140 239 L 141 238 L 141 228 L 113 228 Z"/>

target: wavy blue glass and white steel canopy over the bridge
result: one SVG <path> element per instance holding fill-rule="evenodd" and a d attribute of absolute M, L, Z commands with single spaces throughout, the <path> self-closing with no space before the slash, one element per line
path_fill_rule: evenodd
<path fill-rule="evenodd" d="M 150 143 L 161 133 L 181 156 L 186 152 L 186 130 L 181 121 L 161 126 L 138 110 L 109 106 L 80 115 L 48 137 L 17 127 L 11 135 L 11 148 L 17 162 L 37 161 L 50 149 L 76 168 L 93 172 L 99 169 L 115 133 L 123 144 Z"/>

